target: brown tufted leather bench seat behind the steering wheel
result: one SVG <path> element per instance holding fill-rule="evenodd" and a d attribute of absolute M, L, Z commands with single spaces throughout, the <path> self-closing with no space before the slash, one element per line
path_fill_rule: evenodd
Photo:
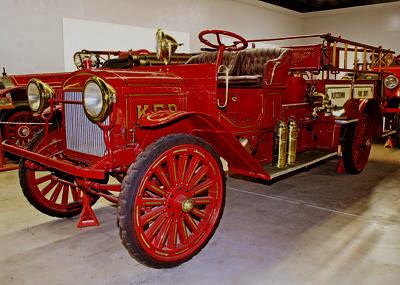
<path fill-rule="evenodd" d="M 224 52 L 222 64 L 229 67 L 230 86 L 261 87 L 267 62 L 281 58 L 287 49 L 285 48 L 254 48 L 238 52 Z M 215 63 L 217 52 L 203 52 L 191 57 L 187 64 Z M 218 84 L 224 85 L 226 77 L 218 76 Z"/>

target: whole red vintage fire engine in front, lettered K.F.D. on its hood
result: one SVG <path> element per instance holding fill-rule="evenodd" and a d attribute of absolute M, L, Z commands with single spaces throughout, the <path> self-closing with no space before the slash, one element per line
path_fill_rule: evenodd
<path fill-rule="evenodd" d="M 215 232 L 225 201 L 222 159 L 230 173 L 263 180 L 332 157 L 338 170 L 361 172 L 380 135 L 381 85 L 336 77 L 382 79 L 392 52 L 328 34 L 292 39 L 311 37 L 319 43 L 248 48 L 268 40 L 205 30 L 199 39 L 207 48 L 190 55 L 158 31 L 156 54 L 136 55 L 120 70 L 74 72 L 61 98 L 32 79 L 29 105 L 47 110 L 46 127 L 27 150 L 3 143 L 23 157 L 25 196 L 48 215 L 81 214 L 78 226 L 98 224 L 91 205 L 99 197 L 118 203 L 124 246 L 162 268 L 192 258 Z M 379 57 L 375 66 L 371 56 Z M 59 108 L 62 123 L 47 124 Z M 121 184 L 109 184 L 110 176 Z"/>

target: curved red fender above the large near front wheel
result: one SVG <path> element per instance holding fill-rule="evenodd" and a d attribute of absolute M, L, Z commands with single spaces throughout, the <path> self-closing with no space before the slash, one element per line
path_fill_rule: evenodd
<path fill-rule="evenodd" d="M 168 134 L 191 134 L 207 141 L 228 162 L 231 172 L 270 180 L 261 164 L 245 150 L 239 140 L 206 114 L 160 111 L 142 116 L 138 125 L 136 135 L 143 149 Z"/>

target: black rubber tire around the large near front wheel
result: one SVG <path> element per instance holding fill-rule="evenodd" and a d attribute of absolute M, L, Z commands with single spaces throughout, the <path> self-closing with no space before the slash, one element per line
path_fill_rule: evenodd
<path fill-rule="evenodd" d="M 161 262 L 149 256 L 142 249 L 139 240 L 136 238 L 136 235 L 134 234 L 133 217 L 132 217 L 132 212 L 134 207 L 133 201 L 135 200 L 135 195 L 141 183 L 141 180 L 143 176 L 146 174 L 146 171 L 148 167 L 152 164 L 152 162 L 166 150 L 170 149 L 173 146 L 181 144 L 199 145 L 205 150 L 207 150 L 217 161 L 219 169 L 221 171 L 222 185 L 223 185 L 222 208 L 217 218 L 217 222 L 215 224 L 214 229 L 212 230 L 207 240 L 205 240 L 205 242 L 199 247 L 198 250 L 196 250 L 191 256 L 179 260 L 177 262 Z M 136 259 L 138 262 L 144 265 L 153 268 L 171 268 L 190 260 L 193 256 L 195 256 L 198 252 L 200 252 L 202 248 L 204 248 L 207 245 L 208 241 L 214 235 L 215 230 L 219 225 L 225 206 L 225 192 L 226 192 L 225 188 L 226 188 L 226 177 L 223 172 L 222 163 L 219 158 L 219 155 L 206 141 L 204 141 L 201 138 L 187 134 L 171 134 L 162 137 L 161 139 L 149 145 L 145 149 L 145 151 L 143 151 L 137 157 L 136 161 L 129 167 L 128 173 L 122 183 L 122 190 L 119 195 L 118 215 L 117 215 L 119 233 L 122 240 L 122 244 L 125 246 L 129 254 L 134 259 Z"/>

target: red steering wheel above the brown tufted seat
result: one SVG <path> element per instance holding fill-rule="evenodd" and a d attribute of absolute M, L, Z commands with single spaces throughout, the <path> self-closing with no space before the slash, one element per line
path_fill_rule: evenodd
<path fill-rule="evenodd" d="M 210 34 L 216 36 L 217 44 L 211 43 L 209 40 L 205 39 L 205 36 L 210 35 Z M 239 51 L 239 50 L 247 48 L 247 46 L 249 45 L 248 42 L 246 41 L 246 39 L 243 38 L 242 36 L 239 36 L 235 33 L 232 33 L 229 31 L 224 31 L 224 30 L 201 31 L 199 34 L 199 40 L 206 46 L 209 46 L 214 49 L 218 49 L 221 45 L 223 45 L 223 43 L 221 41 L 221 35 L 234 39 L 232 41 L 231 45 L 225 46 L 225 50 L 227 50 L 227 51 Z"/>

